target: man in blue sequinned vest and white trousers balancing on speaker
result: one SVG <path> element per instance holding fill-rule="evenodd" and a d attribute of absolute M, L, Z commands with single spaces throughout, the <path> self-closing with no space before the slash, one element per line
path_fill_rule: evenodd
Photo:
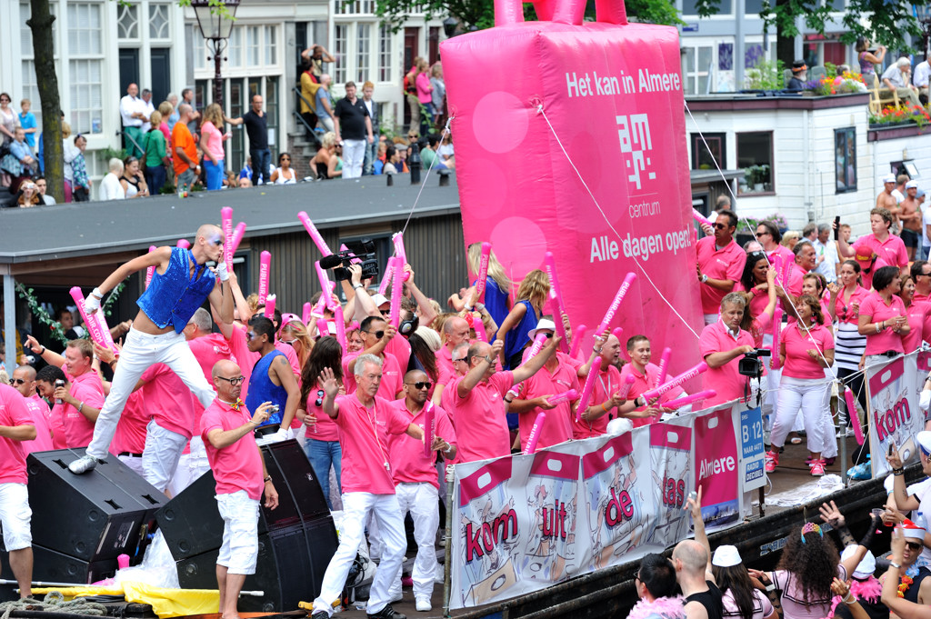
<path fill-rule="evenodd" d="M 182 331 L 196 309 L 208 300 L 223 322 L 233 322 L 233 294 L 228 265 L 221 262 L 222 257 L 223 231 L 205 223 L 197 229 L 191 249 L 166 246 L 150 251 L 117 268 L 88 295 L 85 311 L 89 316 L 100 309 L 103 295 L 126 277 L 155 267 L 149 287 L 137 302 L 140 311 L 123 345 L 110 394 L 94 426 L 93 440 L 87 453 L 68 465 L 72 473 L 86 473 L 107 457 L 129 394 L 142 373 L 155 363 L 169 366 L 204 407 L 213 401 L 213 387 L 204 379 Z M 207 266 L 211 261 L 217 263 L 216 269 Z"/>

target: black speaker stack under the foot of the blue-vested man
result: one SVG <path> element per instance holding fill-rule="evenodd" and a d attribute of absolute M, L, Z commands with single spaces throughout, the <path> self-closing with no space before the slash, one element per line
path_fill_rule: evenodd
<path fill-rule="evenodd" d="M 93 471 L 74 475 L 68 464 L 83 454 L 39 451 L 26 461 L 34 581 L 88 584 L 114 575 L 119 555 L 141 561 L 155 512 L 168 502 L 112 455 Z M 7 556 L 0 577 L 13 579 Z"/>

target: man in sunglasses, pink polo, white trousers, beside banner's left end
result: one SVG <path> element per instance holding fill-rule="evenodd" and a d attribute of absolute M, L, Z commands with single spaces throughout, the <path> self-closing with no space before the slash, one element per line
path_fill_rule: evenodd
<path fill-rule="evenodd" d="M 404 375 L 404 397 L 391 406 L 418 427 L 425 427 L 424 407 L 430 391 L 430 379 L 423 370 L 411 370 Z M 432 404 L 430 406 L 433 406 Z M 434 579 L 438 575 L 436 539 L 439 528 L 439 479 L 437 476 L 436 451 L 450 462 L 456 455 L 456 433 L 445 410 L 433 407 L 434 437 L 430 445 L 430 456 L 424 455 L 423 441 L 407 435 L 388 437 L 388 453 L 391 477 L 395 481 L 395 492 L 401 517 L 411 512 L 413 537 L 417 542 L 417 558 L 413 563 L 413 599 L 418 611 L 432 609 Z M 389 599 L 401 595 L 401 572 L 391 581 Z"/>

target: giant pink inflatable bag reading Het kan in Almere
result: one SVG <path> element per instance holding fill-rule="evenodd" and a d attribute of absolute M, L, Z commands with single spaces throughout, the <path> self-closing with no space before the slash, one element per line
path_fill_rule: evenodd
<path fill-rule="evenodd" d="M 491 242 L 516 281 L 552 252 L 575 327 L 636 274 L 608 328 L 675 342 L 678 373 L 697 340 L 656 289 L 701 328 L 679 37 L 596 5 L 583 24 L 582 0 L 541 0 L 524 22 L 496 0 L 494 28 L 441 44 L 466 244 Z"/>

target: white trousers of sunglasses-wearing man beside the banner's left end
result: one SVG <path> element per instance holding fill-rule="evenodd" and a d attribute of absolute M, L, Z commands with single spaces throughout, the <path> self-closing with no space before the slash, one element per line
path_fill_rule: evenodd
<path fill-rule="evenodd" d="M 433 597 L 433 584 L 439 570 L 437 562 L 437 528 L 439 527 L 439 492 L 433 484 L 398 484 L 398 506 L 401 518 L 411 512 L 413 538 L 417 542 L 417 558 L 413 562 L 414 598 Z M 401 568 L 388 592 L 395 598 L 401 592 Z M 390 598 L 389 598 L 390 599 Z"/>

